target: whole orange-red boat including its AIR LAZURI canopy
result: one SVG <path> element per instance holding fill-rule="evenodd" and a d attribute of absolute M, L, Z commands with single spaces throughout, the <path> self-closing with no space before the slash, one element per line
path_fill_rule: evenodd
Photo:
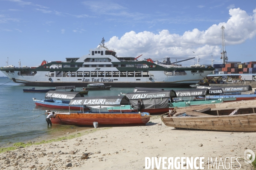
<path fill-rule="evenodd" d="M 99 111 L 79 111 L 79 112 L 56 112 L 55 119 L 51 119 L 53 124 L 64 125 L 84 125 L 93 126 L 93 122 L 98 122 L 99 126 L 105 125 L 145 125 L 150 114 L 146 112 L 106 112 L 101 111 L 107 107 L 120 107 L 128 104 L 126 96 L 94 96 L 94 97 L 76 97 L 71 99 L 71 106 L 87 106 L 99 109 Z M 52 111 L 47 111 L 47 114 Z"/>

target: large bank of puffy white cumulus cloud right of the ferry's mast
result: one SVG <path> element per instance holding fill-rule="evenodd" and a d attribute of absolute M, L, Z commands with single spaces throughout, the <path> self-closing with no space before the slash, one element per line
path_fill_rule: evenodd
<path fill-rule="evenodd" d="M 230 9 L 230 19 L 226 23 L 212 25 L 207 30 L 197 28 L 185 31 L 182 35 L 170 34 L 162 30 L 158 34 L 149 31 L 135 33 L 130 31 L 122 37 L 112 37 L 106 46 L 115 49 L 119 57 L 137 57 L 141 54 L 147 58 L 196 57 L 201 62 L 213 56 L 220 56 L 221 26 L 225 27 L 226 45 L 241 44 L 256 35 L 256 9 L 253 16 L 240 8 Z M 192 53 L 192 51 L 195 52 Z"/>

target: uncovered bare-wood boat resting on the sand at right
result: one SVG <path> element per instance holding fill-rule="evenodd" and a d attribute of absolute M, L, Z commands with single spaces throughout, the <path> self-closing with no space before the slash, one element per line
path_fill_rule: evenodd
<path fill-rule="evenodd" d="M 175 128 L 256 132 L 256 100 L 227 102 L 175 109 L 161 116 L 166 126 Z"/>

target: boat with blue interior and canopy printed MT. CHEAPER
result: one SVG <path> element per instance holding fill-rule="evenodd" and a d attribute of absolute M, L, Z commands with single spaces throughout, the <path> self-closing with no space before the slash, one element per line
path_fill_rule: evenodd
<path fill-rule="evenodd" d="M 69 107 L 69 102 L 74 97 L 84 97 L 83 94 L 79 92 L 68 92 L 68 91 L 48 91 L 45 94 L 45 99 L 33 98 L 35 105 L 42 106 L 46 108 L 56 108 L 56 109 L 71 109 L 71 110 L 81 110 L 80 106 Z M 85 110 L 89 108 L 84 106 Z"/>

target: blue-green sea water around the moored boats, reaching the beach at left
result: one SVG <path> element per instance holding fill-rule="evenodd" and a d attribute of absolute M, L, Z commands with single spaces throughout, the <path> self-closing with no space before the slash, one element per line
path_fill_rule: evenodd
<path fill-rule="evenodd" d="M 49 136 L 58 130 L 86 128 L 54 124 L 52 127 L 48 127 L 44 113 L 46 110 L 56 111 L 56 109 L 35 106 L 32 98 L 44 99 L 45 93 L 23 92 L 25 88 L 33 87 L 12 82 L 7 77 L 0 77 L 0 147 L 10 147 L 15 142 L 27 142 L 29 140 L 38 142 L 44 136 Z M 55 87 L 35 88 L 49 89 Z M 171 88 L 164 89 L 169 90 Z M 76 90 L 79 91 L 81 88 L 77 87 Z M 111 88 L 111 90 L 89 91 L 88 95 L 84 96 L 117 96 L 120 93 L 133 92 L 133 90 L 134 88 Z"/>

